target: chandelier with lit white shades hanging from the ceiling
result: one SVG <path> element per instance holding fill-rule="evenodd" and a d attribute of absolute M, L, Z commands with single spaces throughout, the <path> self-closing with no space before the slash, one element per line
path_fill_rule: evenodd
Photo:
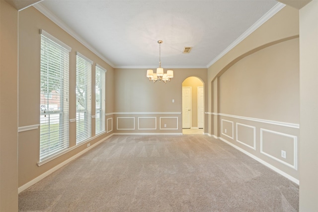
<path fill-rule="evenodd" d="M 170 81 L 170 78 L 173 77 L 173 71 L 172 70 L 168 70 L 166 73 L 163 73 L 163 69 L 161 68 L 161 43 L 162 41 L 159 40 L 159 68 L 157 68 L 157 72 L 154 73 L 154 70 L 147 70 L 147 77 L 150 80 L 153 80 L 154 83 L 157 82 L 159 80 L 159 82 L 162 80 L 164 83 L 166 81 Z"/>

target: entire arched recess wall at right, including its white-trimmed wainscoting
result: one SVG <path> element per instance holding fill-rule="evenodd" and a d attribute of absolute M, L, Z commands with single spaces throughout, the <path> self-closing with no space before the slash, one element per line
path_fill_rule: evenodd
<path fill-rule="evenodd" d="M 299 179 L 299 39 L 234 64 L 219 97 L 221 138 Z"/>

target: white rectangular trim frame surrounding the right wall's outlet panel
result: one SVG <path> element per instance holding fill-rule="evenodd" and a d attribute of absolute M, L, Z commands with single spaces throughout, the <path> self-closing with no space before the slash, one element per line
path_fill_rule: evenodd
<path fill-rule="evenodd" d="M 268 132 L 268 133 L 272 133 L 272 134 L 276 134 L 276 135 L 280 135 L 280 136 L 289 137 L 289 138 L 292 138 L 294 140 L 294 161 L 293 161 L 294 165 L 287 163 L 287 162 L 263 151 L 263 131 Z M 293 135 L 289 135 L 289 134 L 280 133 L 280 132 L 261 128 L 260 129 L 260 153 L 262 153 L 262 154 L 264 154 L 264 155 L 266 155 L 274 160 L 277 160 L 278 162 L 280 162 L 284 165 L 287 165 L 287 166 L 292 167 L 293 169 L 297 170 L 297 136 L 293 136 Z"/>

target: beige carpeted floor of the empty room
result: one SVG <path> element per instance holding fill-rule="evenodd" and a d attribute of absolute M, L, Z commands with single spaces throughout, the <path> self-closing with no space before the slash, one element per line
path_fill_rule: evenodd
<path fill-rule="evenodd" d="M 21 212 L 296 212 L 299 187 L 204 135 L 113 136 L 19 194 Z"/>

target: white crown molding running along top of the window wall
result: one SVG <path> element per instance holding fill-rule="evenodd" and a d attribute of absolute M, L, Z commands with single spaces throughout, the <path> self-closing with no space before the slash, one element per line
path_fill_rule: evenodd
<path fill-rule="evenodd" d="M 74 30 L 72 30 L 69 26 L 67 26 L 63 21 L 61 21 L 55 14 L 53 14 L 50 10 L 48 10 L 43 4 L 37 3 L 33 5 L 34 8 L 39 10 L 42 14 L 48 17 L 51 21 L 56 23 L 59 27 L 61 27 L 64 31 L 69 33 L 72 37 L 79 41 L 82 45 L 84 45 L 87 49 L 92 51 L 95 55 L 100 57 L 103 61 L 105 61 L 109 66 L 114 68 L 115 66 L 110 63 L 102 54 L 100 54 L 95 48 L 93 48 L 90 44 L 88 44 L 83 38 L 79 36 Z"/>

